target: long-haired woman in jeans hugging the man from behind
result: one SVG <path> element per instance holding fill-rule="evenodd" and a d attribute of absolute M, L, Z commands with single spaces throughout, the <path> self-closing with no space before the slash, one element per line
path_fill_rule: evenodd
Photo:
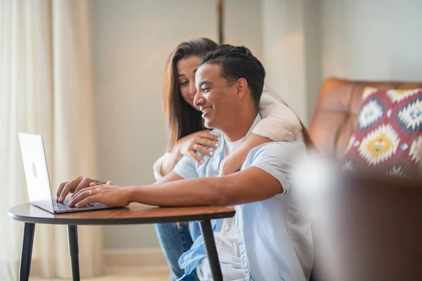
<path fill-rule="evenodd" d="M 182 156 L 201 162 L 201 155 L 212 156 L 207 148 L 217 147 L 217 138 L 203 125 L 201 112 L 193 105 L 196 94 L 195 72 L 200 58 L 217 44 L 210 39 L 198 38 L 185 41 L 172 52 L 165 72 L 163 105 L 168 124 L 168 148 L 165 155 L 153 166 L 155 178 L 170 173 Z M 300 131 L 305 144 L 309 135 L 295 114 L 274 93 L 264 89 L 260 103 L 264 119 L 255 127 L 245 142 L 226 157 L 219 174 L 224 176 L 240 169 L 250 149 L 269 141 L 292 141 Z M 200 235 L 198 223 L 161 223 L 155 225 L 158 240 L 172 270 L 173 280 L 184 275 L 179 268 L 181 254 L 191 248 Z M 184 280 L 198 280 L 188 277 Z"/>

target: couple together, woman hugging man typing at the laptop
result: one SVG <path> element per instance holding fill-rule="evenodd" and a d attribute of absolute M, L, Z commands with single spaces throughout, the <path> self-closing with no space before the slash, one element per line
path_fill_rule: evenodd
<path fill-rule="evenodd" d="M 77 177 L 59 186 L 58 200 L 75 192 L 76 207 L 234 206 L 234 218 L 212 221 L 224 280 L 309 280 L 310 221 L 290 170 L 305 152 L 300 138 L 310 141 L 264 77 L 248 48 L 203 38 L 180 44 L 166 71 L 170 138 L 154 164 L 158 181 L 125 187 Z M 156 229 L 174 280 L 212 280 L 198 223 Z"/>

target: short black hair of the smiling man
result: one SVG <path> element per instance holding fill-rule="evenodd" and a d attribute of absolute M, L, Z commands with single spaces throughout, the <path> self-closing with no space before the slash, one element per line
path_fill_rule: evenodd
<path fill-rule="evenodd" d="M 200 65 L 212 63 L 220 65 L 220 75 L 229 83 L 238 79 L 248 81 L 255 107 L 258 108 L 264 88 L 265 70 L 260 60 L 244 46 L 221 45 L 206 53 Z"/>

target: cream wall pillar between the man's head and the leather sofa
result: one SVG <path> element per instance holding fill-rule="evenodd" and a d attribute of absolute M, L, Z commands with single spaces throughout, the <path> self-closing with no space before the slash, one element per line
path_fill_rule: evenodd
<path fill-rule="evenodd" d="M 263 0 L 266 84 L 307 124 L 321 84 L 319 0 Z"/>

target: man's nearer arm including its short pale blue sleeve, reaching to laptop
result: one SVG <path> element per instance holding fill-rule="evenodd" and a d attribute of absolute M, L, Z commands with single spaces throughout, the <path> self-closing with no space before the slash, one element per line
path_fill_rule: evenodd
<path fill-rule="evenodd" d="M 290 159 L 304 152 L 300 141 L 269 143 L 252 153 L 248 169 L 217 178 L 196 178 L 194 166 L 179 162 L 176 171 L 153 185 L 98 185 L 79 191 L 69 205 L 99 202 L 126 206 L 139 202 L 163 207 L 229 206 L 267 200 L 288 191 Z"/>

